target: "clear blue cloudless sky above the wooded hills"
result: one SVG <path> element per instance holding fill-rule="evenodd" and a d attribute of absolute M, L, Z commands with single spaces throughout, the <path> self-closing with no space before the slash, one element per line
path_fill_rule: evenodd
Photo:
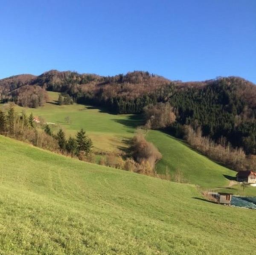
<path fill-rule="evenodd" d="M 50 69 L 256 83 L 256 0 L 3 0 L 0 78 Z"/>

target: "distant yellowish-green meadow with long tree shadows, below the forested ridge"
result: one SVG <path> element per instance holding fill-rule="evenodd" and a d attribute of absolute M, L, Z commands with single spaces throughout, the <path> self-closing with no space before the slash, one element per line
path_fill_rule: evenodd
<path fill-rule="evenodd" d="M 133 114 L 113 115 L 105 113 L 99 108 L 81 104 L 57 105 L 59 93 L 48 92 L 49 102 L 36 109 L 27 108 L 27 114 L 41 116 L 45 122 L 53 122 L 55 130 L 62 127 L 67 135 L 75 134 L 81 127 L 93 140 L 94 149 L 118 151 L 125 145 L 125 139 L 131 138 L 137 125 L 140 125 L 140 116 Z M 24 108 L 17 106 L 18 111 Z M 71 123 L 65 118 L 69 116 Z"/>

